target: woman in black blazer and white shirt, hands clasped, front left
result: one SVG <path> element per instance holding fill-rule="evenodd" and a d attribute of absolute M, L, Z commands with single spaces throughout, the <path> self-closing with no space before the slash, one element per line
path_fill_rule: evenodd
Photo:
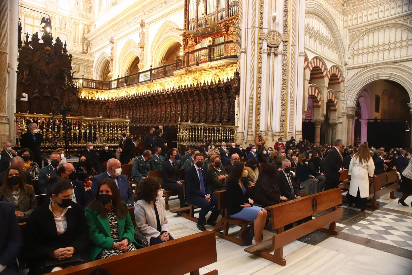
<path fill-rule="evenodd" d="M 52 177 L 50 200 L 34 209 L 26 224 L 28 274 L 44 274 L 87 263 L 87 223 L 83 208 L 72 201 L 70 181 Z"/>

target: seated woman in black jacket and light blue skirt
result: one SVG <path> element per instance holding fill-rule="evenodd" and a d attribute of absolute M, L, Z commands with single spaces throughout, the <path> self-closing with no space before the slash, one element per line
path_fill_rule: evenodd
<path fill-rule="evenodd" d="M 246 177 L 248 171 L 243 162 L 233 163 L 233 168 L 226 182 L 227 213 L 233 219 L 253 221 L 255 238 L 253 244 L 262 242 L 262 231 L 266 223 L 267 212 L 262 207 L 253 205 L 248 191 Z"/>

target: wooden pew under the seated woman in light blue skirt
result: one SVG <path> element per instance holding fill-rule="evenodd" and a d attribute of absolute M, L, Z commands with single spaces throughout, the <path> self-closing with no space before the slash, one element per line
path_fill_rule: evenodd
<path fill-rule="evenodd" d="M 249 186 L 249 195 L 250 197 L 253 197 L 253 186 Z M 216 233 L 216 236 L 221 237 L 222 239 L 228 240 L 230 242 L 233 242 L 235 244 L 238 244 L 240 246 L 243 246 L 246 244 L 246 241 L 243 237 L 243 234 L 249 224 L 252 224 L 253 222 L 251 221 L 244 221 L 244 220 L 239 220 L 239 219 L 232 219 L 229 217 L 227 214 L 227 193 L 226 190 L 220 190 L 216 191 L 213 194 L 218 197 L 218 208 L 219 210 L 224 209 L 223 216 L 218 221 L 218 223 L 215 225 L 215 228 L 213 230 Z M 236 234 L 236 232 L 229 234 L 229 227 L 231 225 L 239 226 L 241 225 L 242 227 L 239 230 L 238 237 L 232 236 Z M 223 232 L 221 231 L 223 228 Z"/>

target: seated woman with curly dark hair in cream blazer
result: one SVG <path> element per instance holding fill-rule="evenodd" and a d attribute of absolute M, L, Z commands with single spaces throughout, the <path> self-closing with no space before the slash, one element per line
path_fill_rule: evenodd
<path fill-rule="evenodd" d="M 150 241 L 150 245 L 173 240 L 161 188 L 161 179 L 147 177 L 136 187 L 134 196 L 135 232 Z"/>

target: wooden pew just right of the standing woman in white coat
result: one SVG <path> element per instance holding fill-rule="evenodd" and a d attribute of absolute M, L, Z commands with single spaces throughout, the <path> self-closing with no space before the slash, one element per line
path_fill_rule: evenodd
<path fill-rule="evenodd" d="M 394 193 L 395 190 L 399 188 L 397 181 L 398 174 L 396 174 L 396 171 L 376 175 L 376 178 L 372 179 L 373 194 L 371 193 L 368 197 L 368 199 L 372 198 L 370 204 L 368 204 L 368 207 L 378 209 L 376 200 L 387 193 L 389 193 L 389 198 L 396 199 Z"/>

